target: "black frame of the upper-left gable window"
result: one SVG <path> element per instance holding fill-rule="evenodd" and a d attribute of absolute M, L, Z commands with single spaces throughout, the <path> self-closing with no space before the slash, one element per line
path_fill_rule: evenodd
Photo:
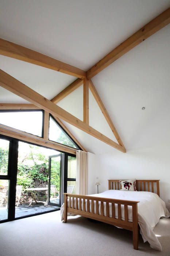
<path fill-rule="evenodd" d="M 30 132 L 25 132 L 25 131 L 16 129 L 14 127 L 8 126 L 8 125 L 5 125 L 5 126 L 9 127 L 9 128 L 12 128 L 12 129 L 15 129 L 15 130 L 20 131 L 20 132 L 25 132 L 27 134 L 37 136 L 38 138 L 43 138 L 44 137 L 44 110 L 43 109 L 5 109 L 5 110 L 0 110 L 0 113 L 1 112 L 3 112 L 3 113 L 5 113 L 5 112 L 6 113 L 11 113 L 11 112 L 42 112 L 42 136 L 38 136 L 38 135 L 32 134 Z M 4 125 L 4 124 L 1 124 L 1 125 Z"/>

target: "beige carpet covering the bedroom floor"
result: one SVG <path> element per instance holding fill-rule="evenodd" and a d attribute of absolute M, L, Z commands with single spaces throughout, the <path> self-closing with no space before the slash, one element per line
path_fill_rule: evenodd
<path fill-rule="evenodd" d="M 0 224 L 0 256 L 133 256 L 170 255 L 170 219 L 162 218 L 154 229 L 163 251 L 155 251 L 132 232 L 84 217 L 60 221 L 59 211 Z"/>

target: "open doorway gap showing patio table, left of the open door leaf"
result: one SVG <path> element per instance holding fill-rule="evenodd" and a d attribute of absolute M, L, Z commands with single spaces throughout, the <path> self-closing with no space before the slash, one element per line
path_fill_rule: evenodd
<path fill-rule="evenodd" d="M 57 153 L 50 148 L 19 142 L 15 218 L 58 208 L 47 202 L 49 155 Z"/>

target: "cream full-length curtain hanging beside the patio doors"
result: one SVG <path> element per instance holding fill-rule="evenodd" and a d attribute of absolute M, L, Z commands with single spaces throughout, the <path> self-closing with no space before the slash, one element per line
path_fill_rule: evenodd
<path fill-rule="evenodd" d="M 87 194 L 87 153 L 76 151 L 76 194 Z"/>

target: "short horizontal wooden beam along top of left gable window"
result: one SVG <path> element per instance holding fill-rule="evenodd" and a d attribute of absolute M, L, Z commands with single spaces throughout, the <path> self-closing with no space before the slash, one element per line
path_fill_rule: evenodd
<path fill-rule="evenodd" d="M 16 103 L 0 103 L 1 110 L 11 110 L 11 109 L 40 109 L 33 104 L 16 104 Z"/>

